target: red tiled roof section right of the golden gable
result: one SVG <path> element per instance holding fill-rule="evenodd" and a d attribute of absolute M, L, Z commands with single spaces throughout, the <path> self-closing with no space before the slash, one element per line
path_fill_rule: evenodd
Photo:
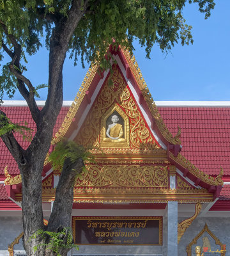
<path fill-rule="evenodd" d="M 173 135 L 181 128 L 181 154 L 197 168 L 230 175 L 230 108 L 158 108 Z"/>

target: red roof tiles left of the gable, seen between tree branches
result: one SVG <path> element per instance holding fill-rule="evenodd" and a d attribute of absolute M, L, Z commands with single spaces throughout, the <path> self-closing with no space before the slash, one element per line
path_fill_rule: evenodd
<path fill-rule="evenodd" d="M 31 113 L 29 112 L 29 108 L 27 108 L 26 106 L 24 106 L 24 107 L 22 107 L 22 106 L 9 106 L 9 107 L 1 106 L 0 109 L 4 113 L 6 113 L 8 118 L 10 118 L 10 120 L 13 123 L 24 124 L 24 122 L 27 122 L 28 127 L 33 129 L 34 131 L 36 131 L 36 125 L 33 122 L 33 119 L 31 117 Z M 63 122 L 63 120 L 66 116 L 66 113 L 67 113 L 68 109 L 69 108 L 66 108 L 66 107 L 63 107 L 61 109 L 61 111 L 59 113 L 59 116 L 57 118 L 56 125 L 54 127 L 54 134 L 58 131 L 59 127 L 61 126 L 61 124 L 62 124 L 62 122 Z M 20 145 L 22 145 L 22 147 L 24 147 L 24 148 L 28 147 L 29 142 L 23 140 L 22 136 L 20 134 L 15 133 L 15 137 L 19 141 Z M 6 165 L 8 165 L 8 172 L 11 175 L 19 174 L 19 169 L 18 169 L 17 163 L 15 162 L 15 160 L 11 156 L 10 152 L 8 151 L 6 146 L 4 145 L 3 140 L 0 140 L 0 152 L 1 152 L 0 177 L 4 176 L 4 168 L 5 168 Z"/>

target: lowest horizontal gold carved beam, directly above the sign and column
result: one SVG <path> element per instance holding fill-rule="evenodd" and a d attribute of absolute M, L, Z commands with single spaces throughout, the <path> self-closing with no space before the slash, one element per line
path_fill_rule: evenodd
<path fill-rule="evenodd" d="M 44 188 L 43 202 L 55 199 L 56 189 Z M 213 202 L 213 195 L 206 189 L 167 189 L 157 187 L 129 188 L 125 186 L 86 187 L 75 186 L 73 189 L 74 202 L 88 203 L 166 203 L 178 201 L 180 203 Z M 21 200 L 21 194 L 16 195 Z"/>

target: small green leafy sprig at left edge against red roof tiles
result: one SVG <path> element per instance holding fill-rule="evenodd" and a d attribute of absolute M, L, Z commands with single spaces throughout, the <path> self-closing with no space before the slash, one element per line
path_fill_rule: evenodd
<path fill-rule="evenodd" d="M 0 114 L 1 126 L 0 126 L 0 136 L 6 134 L 7 132 L 18 132 L 22 135 L 23 140 L 31 141 L 33 129 L 28 127 L 27 122 L 20 122 L 19 124 L 13 124 L 11 120 Z"/>

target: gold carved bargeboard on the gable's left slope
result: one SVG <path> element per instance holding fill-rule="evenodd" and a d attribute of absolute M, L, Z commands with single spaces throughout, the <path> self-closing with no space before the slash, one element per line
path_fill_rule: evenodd
<path fill-rule="evenodd" d="M 86 92 L 89 88 L 89 85 L 91 84 L 91 81 L 93 80 L 93 77 L 95 77 L 95 74 L 98 70 L 98 64 L 93 65 L 93 67 L 89 68 L 88 72 L 86 73 L 86 77 L 84 77 L 84 80 L 81 84 L 81 87 L 79 88 L 79 92 L 77 93 L 77 96 L 73 100 L 72 106 L 68 110 L 68 113 L 63 121 L 63 124 L 59 128 L 59 131 L 55 134 L 54 138 L 51 141 L 51 144 L 56 144 L 63 136 L 65 135 L 66 131 L 68 130 L 68 127 L 70 127 L 70 124 L 72 123 L 72 120 L 74 116 L 77 113 L 77 110 L 79 109 L 79 106 L 82 102 L 82 99 L 86 95 Z"/>

